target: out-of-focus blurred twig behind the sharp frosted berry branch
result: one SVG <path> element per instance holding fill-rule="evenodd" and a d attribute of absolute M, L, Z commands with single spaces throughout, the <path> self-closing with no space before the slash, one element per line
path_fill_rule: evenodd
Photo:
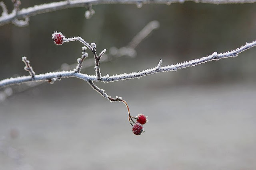
<path fill-rule="evenodd" d="M 150 24 L 150 23 L 155 23 L 155 24 Z M 143 32 L 145 34 L 143 34 L 144 36 L 144 39 L 146 37 L 148 37 L 148 35 L 154 30 L 154 29 L 157 29 L 157 27 L 155 25 L 159 25 L 159 22 L 158 21 L 150 21 L 142 30 L 144 30 Z M 148 33 L 148 35 L 146 35 L 146 33 Z M 139 43 L 142 42 L 142 38 L 138 39 L 136 38 L 138 35 L 141 35 L 141 33 L 138 33 L 137 35 L 135 35 L 135 37 L 133 38 L 134 39 L 137 39 L 138 41 L 136 41 L 136 44 L 138 45 Z M 133 46 L 134 48 L 132 48 L 130 46 L 131 43 L 128 43 L 127 46 L 125 47 L 120 47 L 119 49 L 116 48 L 116 47 L 111 47 L 110 48 L 110 53 L 106 54 L 104 53 L 105 55 L 103 55 L 103 53 L 100 53 L 99 56 L 102 56 L 101 57 L 101 60 L 100 60 L 100 63 L 103 63 L 103 62 L 109 62 L 109 61 L 112 61 L 113 59 L 115 58 L 119 58 L 119 57 L 123 57 L 123 56 L 128 56 L 128 57 L 134 57 L 136 55 L 136 51 L 135 51 L 135 46 Z M 102 51 L 103 52 L 103 51 Z M 105 51 L 104 51 L 105 52 Z M 74 64 L 62 64 L 62 66 L 58 69 L 58 70 L 54 70 L 54 72 L 58 72 L 58 71 L 62 71 L 62 70 L 69 70 L 71 68 L 74 68 L 74 67 L 77 67 L 78 64 L 77 63 L 74 63 Z M 86 60 L 86 63 L 83 64 L 83 66 L 81 66 L 81 70 L 85 69 L 85 68 L 88 68 L 88 67 L 91 67 L 91 66 L 95 66 L 95 59 L 87 59 Z M 80 70 L 80 71 L 81 71 Z M 48 81 L 49 82 L 49 81 Z M 3 91 L 0 92 L 0 102 L 3 102 L 6 98 L 14 95 L 14 94 L 17 94 L 17 93 L 20 93 L 20 92 L 24 92 L 30 88 L 34 88 L 34 87 L 37 87 L 37 86 L 40 86 L 42 84 L 46 83 L 46 81 L 40 81 L 40 82 L 31 82 L 29 84 L 20 84 L 18 87 L 16 86 L 12 86 L 12 87 L 7 87 L 5 88 Z M 52 81 L 50 82 L 52 84 Z"/>

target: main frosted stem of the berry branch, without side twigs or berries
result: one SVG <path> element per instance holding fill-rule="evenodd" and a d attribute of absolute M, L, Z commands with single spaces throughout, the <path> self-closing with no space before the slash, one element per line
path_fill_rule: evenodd
<path fill-rule="evenodd" d="M 45 74 L 35 75 L 34 78 L 31 78 L 31 76 L 7 78 L 0 81 L 0 88 L 4 86 L 10 86 L 13 84 L 20 84 L 20 83 L 32 82 L 32 81 L 44 81 L 44 80 L 50 80 L 52 78 L 58 78 L 58 77 L 61 77 L 61 78 L 76 77 L 85 81 L 102 81 L 102 82 L 114 82 L 114 81 L 126 80 L 131 78 L 140 78 L 142 76 L 147 76 L 157 72 L 176 71 L 177 69 L 196 66 L 198 64 L 206 63 L 212 60 L 219 60 L 219 59 L 224 59 L 228 57 L 236 57 L 239 53 L 242 53 L 243 51 L 255 46 L 256 46 L 256 41 L 252 41 L 252 43 L 246 43 L 242 47 L 237 48 L 236 50 L 232 50 L 230 52 L 225 52 L 220 54 L 213 53 L 212 55 L 208 55 L 207 57 L 202 57 L 201 59 L 194 59 L 194 60 L 186 61 L 184 63 L 178 63 L 175 65 L 168 65 L 164 67 L 158 67 L 161 65 L 161 61 L 159 61 L 158 66 L 154 68 L 149 68 L 147 70 L 143 70 L 139 72 L 132 72 L 130 74 L 124 73 L 124 74 L 113 75 L 113 76 L 102 76 L 100 80 L 98 80 L 97 76 L 89 76 L 87 74 L 75 73 L 74 71 L 48 72 Z"/>

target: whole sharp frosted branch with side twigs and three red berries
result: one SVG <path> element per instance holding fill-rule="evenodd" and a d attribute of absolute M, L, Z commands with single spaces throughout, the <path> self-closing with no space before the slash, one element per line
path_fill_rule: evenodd
<path fill-rule="evenodd" d="M 97 51 L 96 51 L 95 43 L 89 44 L 79 36 L 72 37 L 72 38 L 66 38 L 62 33 L 57 32 L 57 31 L 55 31 L 52 34 L 52 38 L 54 39 L 54 43 L 56 43 L 58 45 L 61 45 L 65 42 L 69 42 L 69 41 L 80 41 L 82 44 L 84 44 L 86 46 L 86 47 L 82 48 L 82 50 L 83 50 L 82 57 L 80 59 L 78 59 L 78 65 L 76 66 L 76 68 L 74 70 L 62 71 L 62 72 L 49 72 L 49 73 L 45 73 L 45 74 L 36 75 L 35 72 L 33 71 L 32 67 L 30 66 L 30 62 L 26 59 L 26 57 L 22 57 L 22 61 L 26 64 L 24 69 L 30 73 L 30 76 L 22 76 L 22 77 L 9 78 L 9 79 L 2 80 L 2 81 L 0 81 L 0 87 L 10 86 L 13 84 L 19 84 L 19 83 L 23 83 L 23 82 L 33 82 L 33 81 L 48 81 L 52 84 L 56 80 L 60 80 L 61 78 L 69 78 L 69 77 L 80 78 L 82 80 L 87 81 L 88 84 L 90 84 L 90 86 L 94 90 L 96 90 L 99 94 L 101 94 L 104 98 L 110 100 L 111 102 L 114 102 L 114 101 L 123 102 L 126 105 L 126 108 L 128 110 L 129 123 L 133 127 L 139 126 L 139 129 L 138 128 L 135 129 L 136 131 L 134 132 L 134 134 L 136 134 L 136 135 L 140 135 L 141 132 L 143 131 L 142 130 L 143 126 L 140 126 L 140 125 L 141 125 L 141 123 L 146 122 L 147 119 L 145 119 L 145 116 L 143 117 L 143 119 L 140 118 L 139 116 L 133 117 L 130 114 L 130 109 L 125 100 L 123 100 L 120 97 L 112 98 L 111 96 L 106 94 L 104 89 L 98 88 L 98 86 L 96 86 L 94 84 L 94 81 L 96 81 L 96 82 L 97 81 L 114 82 L 114 81 L 118 81 L 118 80 L 126 80 L 126 79 L 131 79 L 131 78 L 140 78 L 142 76 L 147 76 L 147 75 L 155 74 L 158 72 L 176 71 L 181 68 L 196 66 L 198 64 L 206 63 L 208 61 L 219 60 L 219 59 L 228 58 L 228 57 L 236 57 L 239 53 L 242 53 L 243 51 L 256 46 L 256 41 L 253 41 L 252 43 L 246 43 L 245 45 L 243 45 L 240 48 L 237 48 L 236 50 L 232 50 L 232 51 L 228 51 L 228 52 L 224 52 L 224 53 L 220 53 L 220 54 L 214 52 L 214 53 L 212 53 L 212 55 L 208 55 L 207 57 L 202 57 L 200 59 L 194 59 L 191 61 L 185 61 L 184 63 L 162 66 L 162 60 L 160 60 L 159 63 L 157 64 L 157 66 L 155 66 L 153 68 L 149 68 L 147 70 L 133 72 L 130 74 L 124 73 L 124 74 L 114 75 L 114 76 L 109 76 L 107 74 L 107 76 L 101 76 L 99 61 L 100 61 L 100 58 L 106 52 L 106 49 L 102 50 L 101 53 L 99 53 L 99 55 L 98 55 Z M 80 73 L 80 70 L 82 68 L 82 63 L 83 63 L 84 59 L 88 56 L 88 54 L 85 52 L 86 48 L 90 49 L 90 51 L 92 52 L 92 54 L 94 56 L 96 75 L 90 76 L 87 74 Z M 135 120 L 137 120 L 137 123 L 135 122 Z M 138 123 L 140 125 L 138 125 Z M 139 131 L 137 131 L 137 130 L 139 130 Z"/>

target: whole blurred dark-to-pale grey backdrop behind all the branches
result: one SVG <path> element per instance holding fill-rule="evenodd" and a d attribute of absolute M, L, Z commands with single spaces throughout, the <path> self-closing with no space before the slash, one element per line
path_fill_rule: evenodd
<path fill-rule="evenodd" d="M 10 12 L 11 1 L 4 2 Z M 26 0 L 21 8 L 47 2 Z M 32 16 L 27 27 L 0 27 L 0 79 L 28 75 L 23 56 L 37 74 L 76 63 L 82 44 L 54 45 L 54 31 L 80 35 L 100 52 L 126 46 L 147 23 L 159 21 L 136 57 L 102 63 L 103 75 L 152 68 L 160 59 L 163 66 L 176 64 L 256 39 L 256 4 L 92 7 L 90 20 L 86 8 L 73 8 Z M 110 96 L 122 96 L 132 115 L 148 115 L 140 136 L 132 133 L 124 104 L 110 103 L 76 78 L 0 96 L 0 170 L 253 170 L 255 54 L 252 48 L 177 72 L 96 83 Z M 82 72 L 95 74 L 94 67 Z"/>

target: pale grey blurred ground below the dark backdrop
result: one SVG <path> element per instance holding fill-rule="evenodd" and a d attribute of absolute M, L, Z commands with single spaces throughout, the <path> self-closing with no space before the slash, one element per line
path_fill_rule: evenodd
<path fill-rule="evenodd" d="M 17 161 L 1 153 L 1 169 L 256 167 L 255 83 L 128 87 L 122 96 L 132 114 L 149 118 L 140 136 L 133 135 L 124 104 L 110 103 L 93 90 L 62 90 L 44 87 L 38 96 L 18 95 L 1 106 L 0 134 L 23 155 Z M 118 94 L 114 89 L 110 92 Z M 14 130 L 19 135 L 11 139 Z"/>

